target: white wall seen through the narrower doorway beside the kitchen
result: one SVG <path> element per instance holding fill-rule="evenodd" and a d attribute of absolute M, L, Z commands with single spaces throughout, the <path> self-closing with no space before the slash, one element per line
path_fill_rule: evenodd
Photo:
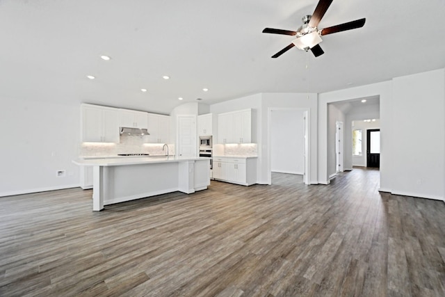
<path fill-rule="evenodd" d="M 305 113 L 273 109 L 270 119 L 270 168 L 273 172 L 302 175 L 305 172 Z"/>

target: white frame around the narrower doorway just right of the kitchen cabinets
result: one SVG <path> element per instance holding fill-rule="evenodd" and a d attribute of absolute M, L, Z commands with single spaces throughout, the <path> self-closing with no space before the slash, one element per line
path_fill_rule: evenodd
<path fill-rule="evenodd" d="M 305 130 L 305 172 L 303 174 L 303 182 L 305 184 L 311 184 L 311 110 L 310 109 L 298 109 L 298 108 L 286 108 L 286 107 L 269 107 L 268 108 L 268 127 L 267 127 L 267 182 L 272 184 L 272 111 L 300 111 L 304 114 L 304 130 Z"/>

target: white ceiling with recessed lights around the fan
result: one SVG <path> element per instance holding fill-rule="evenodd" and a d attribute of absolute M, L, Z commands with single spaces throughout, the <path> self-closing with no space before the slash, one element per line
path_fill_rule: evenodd
<path fill-rule="evenodd" d="M 296 30 L 317 2 L 0 0 L 0 96 L 170 113 L 197 98 L 324 93 L 445 67 L 445 0 L 334 0 L 319 28 L 364 27 L 323 36 L 318 58 L 270 58 L 293 37 L 261 31 Z"/>

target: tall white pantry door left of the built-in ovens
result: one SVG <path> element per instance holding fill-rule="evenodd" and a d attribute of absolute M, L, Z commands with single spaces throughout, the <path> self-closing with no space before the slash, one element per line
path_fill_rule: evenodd
<path fill-rule="evenodd" d="M 178 154 L 181 157 L 197 156 L 195 115 L 178 116 Z"/>

